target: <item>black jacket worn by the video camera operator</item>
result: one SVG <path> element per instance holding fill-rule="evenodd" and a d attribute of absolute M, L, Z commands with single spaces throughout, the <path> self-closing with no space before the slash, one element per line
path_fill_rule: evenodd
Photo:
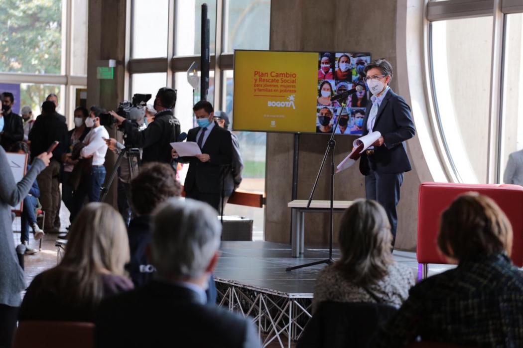
<path fill-rule="evenodd" d="M 158 112 L 154 122 L 141 132 L 129 120 L 123 121 L 122 127 L 127 134 L 126 145 L 143 148 L 144 163 L 172 162 L 170 143 L 177 142 L 180 137 L 180 122 L 172 110 Z"/>

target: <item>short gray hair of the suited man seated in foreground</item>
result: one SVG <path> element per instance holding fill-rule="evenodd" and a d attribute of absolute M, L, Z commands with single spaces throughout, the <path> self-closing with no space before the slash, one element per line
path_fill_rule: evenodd
<path fill-rule="evenodd" d="M 153 265 L 158 274 L 183 279 L 202 275 L 220 247 L 218 212 L 207 203 L 172 198 L 153 215 Z"/>

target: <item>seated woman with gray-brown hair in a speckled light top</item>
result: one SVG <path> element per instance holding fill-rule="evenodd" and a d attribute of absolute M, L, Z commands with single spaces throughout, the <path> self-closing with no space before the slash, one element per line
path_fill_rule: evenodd
<path fill-rule="evenodd" d="M 314 310 L 322 301 L 372 302 L 400 307 L 415 274 L 392 260 L 389 219 L 376 201 L 356 200 L 339 228 L 342 257 L 324 268 L 314 288 Z"/>

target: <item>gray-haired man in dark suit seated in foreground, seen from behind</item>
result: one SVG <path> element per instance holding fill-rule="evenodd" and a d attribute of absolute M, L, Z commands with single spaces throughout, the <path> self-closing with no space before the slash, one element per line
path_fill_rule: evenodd
<path fill-rule="evenodd" d="M 250 319 L 206 305 L 204 288 L 219 257 L 216 211 L 203 202 L 172 198 L 153 215 L 155 278 L 101 302 L 97 346 L 259 347 Z"/>

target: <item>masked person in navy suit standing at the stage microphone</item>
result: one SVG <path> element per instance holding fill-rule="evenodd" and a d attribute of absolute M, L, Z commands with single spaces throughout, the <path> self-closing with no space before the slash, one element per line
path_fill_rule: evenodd
<path fill-rule="evenodd" d="M 403 172 L 411 170 L 405 141 L 416 131 L 411 108 L 389 87 L 392 65 L 379 59 L 365 67 L 365 81 L 372 92 L 363 119 L 363 135 L 380 132 L 380 138 L 361 156 L 359 169 L 365 175 L 367 199 L 378 201 L 389 217 L 392 246 L 396 239 L 397 212 Z"/>

